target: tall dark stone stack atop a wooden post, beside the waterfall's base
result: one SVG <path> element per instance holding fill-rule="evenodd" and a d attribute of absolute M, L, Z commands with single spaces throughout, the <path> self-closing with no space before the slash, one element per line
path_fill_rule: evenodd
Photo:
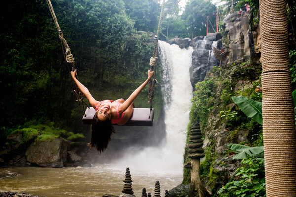
<path fill-rule="evenodd" d="M 201 139 L 201 131 L 199 123 L 194 123 L 190 131 L 190 144 L 188 150 L 188 157 L 191 159 L 199 159 L 204 157 L 204 150 L 202 147 L 203 141 Z"/>

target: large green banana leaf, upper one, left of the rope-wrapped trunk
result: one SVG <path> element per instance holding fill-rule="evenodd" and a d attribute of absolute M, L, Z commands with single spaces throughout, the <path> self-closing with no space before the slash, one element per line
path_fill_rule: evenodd
<path fill-rule="evenodd" d="M 232 100 L 239 106 L 246 116 L 253 118 L 253 120 L 263 125 L 262 102 L 244 96 L 232 97 Z"/>

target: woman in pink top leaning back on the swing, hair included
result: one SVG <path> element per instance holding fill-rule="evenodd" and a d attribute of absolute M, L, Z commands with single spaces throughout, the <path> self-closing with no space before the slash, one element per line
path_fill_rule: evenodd
<path fill-rule="evenodd" d="M 141 84 L 130 96 L 124 99 L 97 101 L 90 94 L 88 89 L 78 81 L 75 77 L 77 70 L 71 72 L 71 76 L 81 92 L 89 100 L 89 103 L 96 109 L 92 124 L 91 142 L 88 144 L 91 148 L 96 148 L 99 152 L 103 152 L 111 140 L 114 133 L 113 124 L 126 124 L 133 114 L 133 101 L 143 90 L 147 83 L 151 80 L 154 71 L 148 71 L 148 78 Z"/>

